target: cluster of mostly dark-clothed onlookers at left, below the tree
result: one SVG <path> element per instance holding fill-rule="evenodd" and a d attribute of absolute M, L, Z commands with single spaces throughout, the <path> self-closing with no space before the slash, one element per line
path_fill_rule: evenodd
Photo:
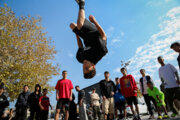
<path fill-rule="evenodd" d="M 3 94 L 4 85 L 0 86 L 0 120 L 26 120 L 27 110 L 30 111 L 29 120 L 47 120 L 50 105 L 48 90 L 45 88 L 41 93 L 41 86 L 35 85 L 35 91 L 30 93 L 28 85 L 23 86 L 23 92 L 19 94 L 15 111 L 6 115 L 5 108 L 9 106 L 7 97 Z M 10 112 L 11 113 L 11 112 Z M 14 113 L 14 114 L 13 114 Z"/>

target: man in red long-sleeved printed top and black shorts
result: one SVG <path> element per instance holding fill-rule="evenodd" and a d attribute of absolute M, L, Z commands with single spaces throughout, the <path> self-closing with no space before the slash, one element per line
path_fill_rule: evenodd
<path fill-rule="evenodd" d="M 127 100 L 127 104 L 130 106 L 131 111 L 134 115 L 133 120 L 140 120 L 139 116 L 139 107 L 137 100 L 137 85 L 134 77 L 132 75 L 127 74 L 126 68 L 121 68 L 121 73 L 123 77 L 120 78 L 121 92 Z M 133 108 L 133 104 L 136 107 L 137 116 L 135 115 L 135 111 Z"/>

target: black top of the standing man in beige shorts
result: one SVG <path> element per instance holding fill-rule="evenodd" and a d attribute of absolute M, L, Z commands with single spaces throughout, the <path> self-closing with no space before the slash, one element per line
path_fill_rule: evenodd
<path fill-rule="evenodd" d="M 102 96 L 105 96 L 106 98 L 111 98 L 113 97 L 113 95 L 111 94 L 111 92 L 115 93 L 115 84 L 113 81 L 106 81 L 106 80 L 101 80 L 100 81 L 100 90 L 101 90 L 101 94 Z"/>

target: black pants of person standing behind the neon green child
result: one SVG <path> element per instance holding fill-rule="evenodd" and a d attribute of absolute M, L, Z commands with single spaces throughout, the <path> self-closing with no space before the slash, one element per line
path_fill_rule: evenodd
<path fill-rule="evenodd" d="M 155 105 L 155 107 L 157 108 L 156 105 L 156 101 L 153 97 L 149 96 L 148 94 L 143 95 L 144 96 L 144 101 L 147 105 L 148 111 L 150 115 L 153 115 L 153 111 L 152 111 L 152 105 L 151 105 L 151 101 L 153 102 L 153 104 Z"/>

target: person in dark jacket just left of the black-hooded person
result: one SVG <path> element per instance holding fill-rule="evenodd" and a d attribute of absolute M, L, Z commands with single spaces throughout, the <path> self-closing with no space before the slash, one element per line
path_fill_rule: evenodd
<path fill-rule="evenodd" d="M 30 95 L 30 92 L 28 91 L 29 87 L 27 85 L 24 85 L 23 92 L 19 94 L 19 97 L 16 102 L 16 120 L 26 120 L 27 119 L 27 108 L 28 105 L 28 97 Z"/>

